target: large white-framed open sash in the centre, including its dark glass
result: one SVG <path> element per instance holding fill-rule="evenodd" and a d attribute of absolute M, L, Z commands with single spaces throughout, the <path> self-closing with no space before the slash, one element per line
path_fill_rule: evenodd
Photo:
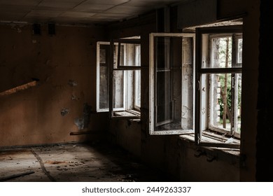
<path fill-rule="evenodd" d="M 194 48 L 195 34 L 150 34 L 150 134 L 194 132 Z"/>

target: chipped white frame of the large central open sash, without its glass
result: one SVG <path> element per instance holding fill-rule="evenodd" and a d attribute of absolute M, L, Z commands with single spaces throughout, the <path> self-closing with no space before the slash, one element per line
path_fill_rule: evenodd
<path fill-rule="evenodd" d="M 158 123 L 155 120 L 155 116 L 157 115 L 157 111 L 155 109 L 155 102 L 156 102 L 156 95 L 155 95 L 155 85 L 156 85 L 156 79 L 155 79 L 155 48 L 154 48 L 154 38 L 155 37 L 181 37 L 181 44 L 182 44 L 182 38 L 193 38 L 193 78 L 195 78 L 195 34 L 181 34 L 181 33 L 151 33 L 150 34 L 150 66 L 149 66 L 149 134 L 151 135 L 167 135 L 167 134 L 193 134 L 195 130 L 195 106 L 193 104 L 193 129 L 176 129 L 176 130 L 156 130 L 156 126 L 158 126 Z M 182 54 L 181 54 L 182 56 Z M 182 65 L 181 65 L 182 67 Z M 182 71 L 182 69 L 181 69 Z M 182 73 L 182 72 L 181 72 Z M 181 93 L 182 93 L 182 80 L 181 80 Z M 195 100 L 195 80 L 193 79 L 193 101 Z M 181 96 L 181 103 L 182 103 L 182 96 Z M 182 113 L 182 106 L 181 106 L 181 113 Z M 165 122 L 170 123 L 170 122 Z M 182 117 L 181 117 L 181 124 L 182 124 Z"/>

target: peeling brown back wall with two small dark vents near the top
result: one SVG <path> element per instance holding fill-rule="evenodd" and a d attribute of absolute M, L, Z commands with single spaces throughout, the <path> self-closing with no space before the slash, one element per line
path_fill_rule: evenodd
<path fill-rule="evenodd" d="M 104 31 L 56 26 L 50 36 L 41 27 L 34 35 L 31 25 L 0 25 L 0 94 L 13 92 L 0 96 L 0 146 L 86 141 L 108 128 L 92 113 Z M 70 135 L 78 131 L 96 134 Z"/>

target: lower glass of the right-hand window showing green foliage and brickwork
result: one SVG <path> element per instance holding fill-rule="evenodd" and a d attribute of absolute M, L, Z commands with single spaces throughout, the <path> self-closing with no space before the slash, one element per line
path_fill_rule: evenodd
<path fill-rule="evenodd" d="M 241 73 L 209 74 L 209 79 L 211 128 L 218 128 L 230 132 L 230 134 L 233 134 L 233 130 L 239 132 L 241 125 Z"/>

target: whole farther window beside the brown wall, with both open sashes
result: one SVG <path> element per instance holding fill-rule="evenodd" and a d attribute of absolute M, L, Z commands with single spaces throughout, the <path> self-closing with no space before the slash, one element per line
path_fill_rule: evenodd
<path fill-rule="evenodd" d="M 140 118 L 140 52 L 139 39 L 97 43 L 97 111 Z"/>

